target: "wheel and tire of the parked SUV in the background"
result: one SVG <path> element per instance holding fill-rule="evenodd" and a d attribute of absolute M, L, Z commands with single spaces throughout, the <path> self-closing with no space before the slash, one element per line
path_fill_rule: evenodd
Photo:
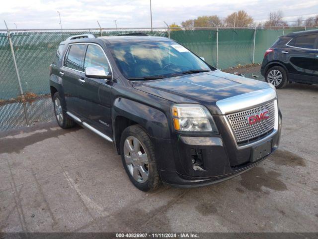
<path fill-rule="evenodd" d="M 276 89 L 285 87 L 288 83 L 285 69 L 281 66 L 269 68 L 265 74 L 265 81 L 275 86 Z"/>

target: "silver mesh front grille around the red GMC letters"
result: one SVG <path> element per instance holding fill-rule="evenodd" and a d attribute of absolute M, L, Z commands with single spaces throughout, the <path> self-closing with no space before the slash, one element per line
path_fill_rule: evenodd
<path fill-rule="evenodd" d="M 268 111 L 268 119 L 260 120 L 249 124 L 248 117 Z M 232 127 L 238 145 L 256 141 L 271 133 L 275 125 L 275 107 L 274 102 L 262 105 L 246 111 L 233 113 L 226 116 Z"/>

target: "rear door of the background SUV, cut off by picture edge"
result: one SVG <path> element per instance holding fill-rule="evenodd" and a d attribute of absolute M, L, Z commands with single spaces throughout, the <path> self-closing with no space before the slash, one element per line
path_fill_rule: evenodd
<path fill-rule="evenodd" d="M 317 34 L 295 36 L 282 51 L 287 55 L 288 73 L 292 81 L 312 83 L 316 61 Z"/>

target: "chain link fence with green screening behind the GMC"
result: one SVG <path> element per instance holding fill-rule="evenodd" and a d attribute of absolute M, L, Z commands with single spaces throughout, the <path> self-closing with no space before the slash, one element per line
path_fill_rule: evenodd
<path fill-rule="evenodd" d="M 308 28 L 307 28 L 308 29 Z M 169 37 L 220 69 L 261 63 L 264 52 L 281 35 L 304 30 L 285 27 L 200 29 L 93 29 L 11 31 L 13 51 L 21 79 L 21 99 L 8 33 L 0 30 L 0 131 L 54 120 L 49 93 L 49 65 L 59 43 L 72 35 L 97 36 L 143 32 Z"/>

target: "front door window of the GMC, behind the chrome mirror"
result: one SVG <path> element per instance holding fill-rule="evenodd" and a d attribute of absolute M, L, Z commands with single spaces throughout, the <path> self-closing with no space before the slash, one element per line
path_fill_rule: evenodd
<path fill-rule="evenodd" d="M 110 71 L 104 51 L 99 46 L 88 45 L 84 61 L 84 70 L 86 67 L 93 66 L 101 66 L 105 69 L 105 72 Z"/>

